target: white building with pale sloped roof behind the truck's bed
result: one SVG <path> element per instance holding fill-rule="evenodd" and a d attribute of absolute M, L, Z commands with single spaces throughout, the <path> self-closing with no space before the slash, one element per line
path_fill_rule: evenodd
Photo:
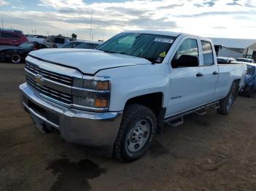
<path fill-rule="evenodd" d="M 214 42 L 217 56 L 229 58 L 243 58 L 244 50 L 251 44 L 256 43 L 256 39 L 227 39 L 209 38 Z"/>

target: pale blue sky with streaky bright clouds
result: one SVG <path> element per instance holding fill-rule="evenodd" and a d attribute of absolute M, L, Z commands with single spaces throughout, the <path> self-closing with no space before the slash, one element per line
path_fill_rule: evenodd
<path fill-rule="evenodd" d="M 90 28 L 94 40 L 140 29 L 256 39 L 256 0 L 0 0 L 0 17 L 24 34 L 78 39 Z"/>

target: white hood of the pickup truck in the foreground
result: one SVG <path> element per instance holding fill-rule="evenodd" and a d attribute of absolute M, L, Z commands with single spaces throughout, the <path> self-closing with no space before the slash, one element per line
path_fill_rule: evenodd
<path fill-rule="evenodd" d="M 71 66 L 84 74 L 96 74 L 102 69 L 150 64 L 151 62 L 130 55 L 107 53 L 100 50 L 55 48 L 32 51 L 29 55 L 51 63 Z"/>

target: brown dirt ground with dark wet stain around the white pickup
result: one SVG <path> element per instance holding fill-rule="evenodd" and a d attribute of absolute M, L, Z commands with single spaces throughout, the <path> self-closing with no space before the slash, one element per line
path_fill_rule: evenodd
<path fill-rule="evenodd" d="M 0 190 L 256 190 L 256 96 L 228 116 L 191 115 L 122 164 L 34 128 L 20 107 L 23 64 L 0 63 Z"/>

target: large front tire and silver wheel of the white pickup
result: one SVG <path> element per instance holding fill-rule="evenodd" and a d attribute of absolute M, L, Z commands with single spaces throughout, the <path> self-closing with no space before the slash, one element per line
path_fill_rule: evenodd
<path fill-rule="evenodd" d="M 145 155 L 156 134 L 157 118 L 146 106 L 132 104 L 124 109 L 124 116 L 114 144 L 114 157 L 131 162 Z"/>

